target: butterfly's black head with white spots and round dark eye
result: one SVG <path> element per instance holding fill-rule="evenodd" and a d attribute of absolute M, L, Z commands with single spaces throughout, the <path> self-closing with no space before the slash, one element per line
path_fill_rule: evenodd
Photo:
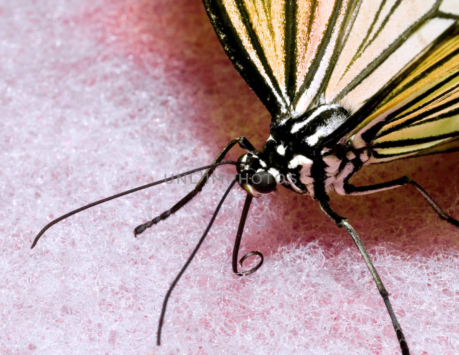
<path fill-rule="evenodd" d="M 254 153 L 241 155 L 238 162 L 239 185 L 253 197 L 270 194 L 281 183 L 279 172 Z"/>

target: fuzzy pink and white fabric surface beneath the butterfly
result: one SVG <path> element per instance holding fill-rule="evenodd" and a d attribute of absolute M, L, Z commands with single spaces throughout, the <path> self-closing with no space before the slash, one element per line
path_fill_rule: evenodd
<path fill-rule="evenodd" d="M 168 221 L 140 222 L 191 188 L 163 185 L 80 205 L 213 160 L 269 115 L 225 57 L 200 1 L 0 1 L 1 354 L 397 354 L 369 272 L 308 197 L 255 200 L 232 274 L 244 199 L 229 195 L 169 302 L 162 298 L 225 189 L 207 186 Z M 229 158 L 242 153 L 235 149 Z M 407 174 L 459 216 L 458 154 L 365 168 L 355 184 Z M 220 172 L 233 172 L 227 167 Z M 459 233 L 402 188 L 333 194 L 391 293 L 413 354 L 459 352 Z"/>

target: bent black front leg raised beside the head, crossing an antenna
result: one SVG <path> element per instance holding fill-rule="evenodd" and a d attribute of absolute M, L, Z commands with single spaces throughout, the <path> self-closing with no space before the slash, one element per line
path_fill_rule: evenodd
<path fill-rule="evenodd" d="M 249 152 L 253 152 L 255 148 L 253 145 L 249 142 L 246 137 L 241 136 L 239 138 L 233 139 L 231 142 L 226 144 L 226 147 L 218 153 L 217 157 L 214 159 L 213 163 L 218 163 L 222 161 L 225 157 L 225 155 L 229 152 L 231 148 L 235 146 L 235 144 L 239 144 L 239 146 L 242 149 L 245 149 Z M 169 210 L 162 212 L 159 216 L 156 216 L 153 218 L 151 221 L 148 221 L 146 223 L 140 224 L 140 226 L 137 226 L 134 228 L 134 235 L 137 236 L 138 234 L 144 232 L 146 228 L 150 228 L 154 224 L 157 224 L 158 222 L 161 222 L 168 218 L 168 216 L 174 214 L 175 212 L 179 211 L 183 206 L 185 206 L 188 202 L 190 202 L 197 194 L 199 194 L 204 187 L 204 185 L 207 183 L 209 180 L 209 177 L 213 174 L 217 167 L 212 167 L 206 170 L 204 174 L 202 175 L 201 179 L 198 181 L 196 184 L 196 187 L 191 190 L 183 199 L 181 199 L 179 202 L 177 202 L 175 205 L 173 205 Z"/>

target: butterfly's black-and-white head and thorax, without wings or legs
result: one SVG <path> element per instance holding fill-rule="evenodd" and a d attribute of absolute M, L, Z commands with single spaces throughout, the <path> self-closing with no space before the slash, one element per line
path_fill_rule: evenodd
<path fill-rule="evenodd" d="M 337 134 L 349 116 L 342 106 L 328 104 L 297 118 L 274 118 L 264 148 L 239 158 L 241 187 L 254 197 L 274 191 L 277 184 L 314 199 L 332 190 L 347 194 L 347 180 L 371 156 L 368 146 L 357 148 Z"/>

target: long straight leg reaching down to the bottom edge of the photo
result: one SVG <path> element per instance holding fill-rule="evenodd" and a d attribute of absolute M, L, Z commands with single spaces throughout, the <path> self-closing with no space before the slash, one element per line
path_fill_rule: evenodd
<path fill-rule="evenodd" d="M 381 297 L 384 300 L 384 304 L 386 305 L 387 311 L 389 312 L 389 316 L 391 317 L 395 333 L 397 333 L 397 339 L 400 343 L 400 348 L 402 349 L 402 354 L 408 355 L 408 344 L 405 340 L 405 336 L 403 335 L 402 328 L 400 327 L 400 324 L 397 321 L 397 317 L 395 316 L 395 313 L 392 309 L 391 301 L 389 300 L 389 294 L 386 291 L 386 288 L 384 287 L 384 284 L 382 283 L 381 278 L 379 277 L 378 272 L 375 269 L 375 266 L 371 262 L 371 259 L 368 255 L 367 250 L 364 247 L 364 244 L 362 243 L 362 240 L 360 239 L 354 228 L 349 224 L 349 222 L 347 222 L 347 218 L 341 217 L 335 212 L 335 210 L 333 210 L 328 199 L 319 200 L 319 205 L 322 211 L 324 211 L 325 214 L 329 216 L 338 227 L 344 227 L 347 230 L 347 233 L 349 233 L 349 235 L 354 240 L 355 245 L 357 245 L 360 254 L 364 258 L 365 264 L 367 264 L 371 276 L 373 276 L 373 279 L 375 280 L 376 286 L 378 287 L 379 293 L 381 294 Z"/>

